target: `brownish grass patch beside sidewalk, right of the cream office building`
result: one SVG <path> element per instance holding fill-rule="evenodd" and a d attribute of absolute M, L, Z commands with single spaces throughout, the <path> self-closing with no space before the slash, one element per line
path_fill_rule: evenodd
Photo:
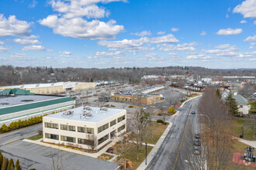
<path fill-rule="evenodd" d="M 157 121 L 150 121 L 150 126 L 148 128 L 148 134 L 144 138 L 144 142 L 149 144 L 156 144 L 158 139 L 164 133 L 165 129 L 168 127 L 167 124 L 158 124 Z"/>

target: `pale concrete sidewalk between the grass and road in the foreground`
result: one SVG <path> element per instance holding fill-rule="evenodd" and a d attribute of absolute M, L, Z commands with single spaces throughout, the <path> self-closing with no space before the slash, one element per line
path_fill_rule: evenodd
<path fill-rule="evenodd" d="M 169 122 L 168 127 L 165 129 L 164 133 L 161 135 L 159 140 L 157 141 L 156 145 L 154 145 L 154 148 L 150 151 L 150 153 L 147 155 L 147 165 L 150 164 L 152 159 L 154 158 L 154 155 L 157 153 L 158 149 L 161 147 L 161 144 L 164 141 L 165 136 L 168 134 L 172 126 L 172 123 Z M 143 170 L 147 168 L 147 165 L 145 165 L 145 160 L 140 164 L 140 166 L 137 168 L 137 170 Z"/>

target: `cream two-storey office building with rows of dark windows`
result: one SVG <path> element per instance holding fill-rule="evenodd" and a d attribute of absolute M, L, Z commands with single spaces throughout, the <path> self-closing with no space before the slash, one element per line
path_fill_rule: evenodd
<path fill-rule="evenodd" d="M 77 107 L 43 117 L 43 141 L 99 150 L 126 131 L 126 110 Z"/>

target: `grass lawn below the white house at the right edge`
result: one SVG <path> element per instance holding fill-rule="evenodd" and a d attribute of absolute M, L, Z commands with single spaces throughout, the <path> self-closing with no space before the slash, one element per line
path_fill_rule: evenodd
<path fill-rule="evenodd" d="M 232 131 L 235 135 L 235 137 L 239 137 L 240 134 L 242 134 L 241 127 L 244 127 L 244 139 L 254 141 L 256 138 L 254 138 L 254 123 L 253 121 L 247 121 L 247 120 L 232 120 L 234 122 L 234 127 L 232 128 Z M 256 125 L 256 122 L 255 122 Z M 256 127 L 255 127 L 255 134 L 256 134 Z M 256 136 L 256 135 L 255 135 Z"/>

